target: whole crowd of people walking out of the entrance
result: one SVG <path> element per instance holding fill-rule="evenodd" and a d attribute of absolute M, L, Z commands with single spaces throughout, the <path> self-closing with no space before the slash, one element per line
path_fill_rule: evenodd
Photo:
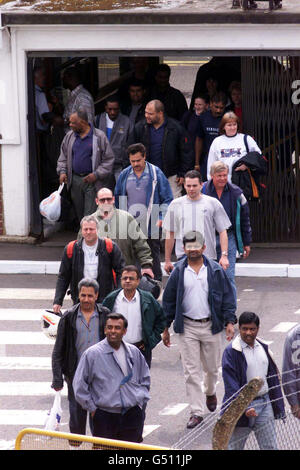
<path fill-rule="evenodd" d="M 226 94 L 209 76 L 205 93 L 194 94 L 188 110 L 170 73 L 161 64 L 153 83 L 133 77 L 96 116 L 75 68 L 64 73 L 71 93 L 57 174 L 80 229 L 64 249 L 56 284 L 54 311 L 61 312 L 68 289 L 74 305 L 58 325 L 52 387 L 60 390 L 64 380 L 68 385 L 72 433 L 85 434 L 89 415 L 94 436 L 141 442 L 152 350 L 161 339 L 170 346 L 172 325 L 192 429 L 205 414 L 202 374 L 206 407 L 217 408 L 225 330 L 224 403 L 251 378 L 264 379 L 237 425 L 237 434 L 239 424 L 244 428 L 243 447 L 252 429 L 259 436 L 262 424 L 284 415 L 278 370 L 256 339 L 259 318 L 236 315 L 235 263 L 237 254 L 250 255 L 251 224 L 234 176 L 247 173 L 247 155 L 257 158 L 261 150 L 242 132 L 239 82 Z M 46 124 L 53 113 L 41 112 L 39 119 Z M 144 276 L 161 283 L 162 264 L 169 278 L 160 302 L 140 286 Z M 288 354 L 287 346 L 286 368 Z M 274 384 L 276 409 L 270 406 Z M 299 391 L 296 398 L 289 401 L 299 418 Z M 261 448 L 276 448 L 275 426 L 270 432 L 272 438 L 260 438 Z"/>

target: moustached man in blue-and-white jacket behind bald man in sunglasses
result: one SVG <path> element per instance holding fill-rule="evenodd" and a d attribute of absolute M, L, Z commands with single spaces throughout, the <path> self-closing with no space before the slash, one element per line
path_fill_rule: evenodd
<path fill-rule="evenodd" d="M 127 151 L 130 166 L 118 178 L 115 205 L 117 209 L 129 212 L 140 223 L 151 249 L 154 278 L 161 281 L 160 228 L 173 200 L 172 190 L 164 173 L 146 161 L 143 144 L 132 144 Z"/>

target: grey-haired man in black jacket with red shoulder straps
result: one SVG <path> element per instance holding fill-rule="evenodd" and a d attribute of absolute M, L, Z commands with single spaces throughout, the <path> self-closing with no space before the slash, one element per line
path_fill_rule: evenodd
<path fill-rule="evenodd" d="M 78 302 L 78 283 L 84 277 L 97 280 L 98 302 L 102 302 L 120 283 L 124 258 L 119 247 L 111 240 L 98 238 L 98 222 L 93 216 L 81 221 L 82 240 L 66 245 L 56 282 L 53 310 L 61 310 L 67 289 L 73 303 Z"/>

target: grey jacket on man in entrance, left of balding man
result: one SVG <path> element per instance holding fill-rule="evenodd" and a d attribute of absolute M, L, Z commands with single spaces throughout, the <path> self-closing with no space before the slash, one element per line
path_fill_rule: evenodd
<path fill-rule="evenodd" d="M 96 127 L 106 135 L 106 113 L 96 116 Z M 119 114 L 114 121 L 114 127 L 110 136 L 110 145 L 115 156 L 115 168 L 125 168 L 128 166 L 127 140 L 133 130 L 133 125 L 127 116 Z"/>

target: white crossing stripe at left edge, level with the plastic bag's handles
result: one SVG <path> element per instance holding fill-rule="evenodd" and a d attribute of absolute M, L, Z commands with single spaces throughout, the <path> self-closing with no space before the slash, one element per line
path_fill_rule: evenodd
<path fill-rule="evenodd" d="M 61 391 L 62 395 L 67 395 L 67 387 Z M 54 390 L 51 382 L 0 382 L 0 396 L 50 396 L 54 399 Z M 51 400 L 50 400 L 51 401 Z M 0 410 L 1 411 L 1 410 Z M 23 411 L 23 410 L 22 410 Z"/>

